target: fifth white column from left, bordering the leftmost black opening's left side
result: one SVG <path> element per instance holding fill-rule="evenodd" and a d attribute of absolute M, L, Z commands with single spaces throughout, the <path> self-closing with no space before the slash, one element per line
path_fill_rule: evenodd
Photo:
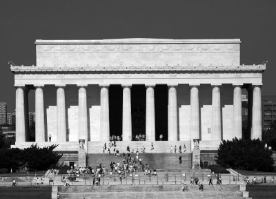
<path fill-rule="evenodd" d="M 109 127 L 109 84 L 101 84 L 101 141 L 108 142 L 110 136 Z"/>

